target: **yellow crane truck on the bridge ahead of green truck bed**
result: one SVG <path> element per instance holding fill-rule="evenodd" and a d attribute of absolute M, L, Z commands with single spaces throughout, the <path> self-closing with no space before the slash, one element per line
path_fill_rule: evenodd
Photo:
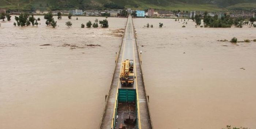
<path fill-rule="evenodd" d="M 126 59 L 122 63 L 122 69 L 119 80 L 121 84 L 134 84 L 133 60 Z"/>

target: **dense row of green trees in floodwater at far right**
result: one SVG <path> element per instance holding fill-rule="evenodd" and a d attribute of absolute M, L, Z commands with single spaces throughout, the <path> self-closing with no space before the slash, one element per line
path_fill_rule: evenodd
<path fill-rule="evenodd" d="M 192 20 L 196 21 L 196 25 L 201 24 L 201 20 L 203 19 L 204 27 L 215 27 L 215 28 L 230 28 L 232 25 L 235 25 L 236 27 L 242 28 L 242 25 L 249 24 L 249 21 L 251 22 L 251 26 L 255 26 L 253 23 L 256 21 L 255 17 L 251 17 L 249 21 L 245 21 L 242 17 L 230 17 L 229 15 L 224 15 L 223 17 L 219 18 L 218 15 L 215 16 L 209 16 L 208 13 L 205 12 L 204 16 L 202 15 L 195 15 L 195 17 L 192 16 Z"/>

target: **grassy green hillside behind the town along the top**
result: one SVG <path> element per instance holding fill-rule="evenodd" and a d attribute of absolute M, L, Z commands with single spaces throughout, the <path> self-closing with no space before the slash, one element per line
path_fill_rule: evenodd
<path fill-rule="evenodd" d="M 0 0 L 0 8 L 35 11 L 64 9 L 256 10 L 256 0 Z"/>

